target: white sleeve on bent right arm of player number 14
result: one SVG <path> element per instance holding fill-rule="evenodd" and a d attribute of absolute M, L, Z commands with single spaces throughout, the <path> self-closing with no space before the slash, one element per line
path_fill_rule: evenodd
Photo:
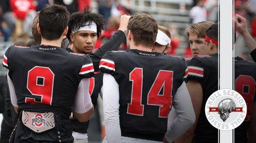
<path fill-rule="evenodd" d="M 173 121 L 169 121 L 170 126 L 165 134 L 165 138 L 169 142 L 185 133 L 195 122 L 195 112 L 185 82 L 178 88 L 174 96 L 173 108 L 175 111 L 170 111 L 171 115 L 168 115 L 168 120 Z M 173 116 L 176 118 L 174 119 Z"/>

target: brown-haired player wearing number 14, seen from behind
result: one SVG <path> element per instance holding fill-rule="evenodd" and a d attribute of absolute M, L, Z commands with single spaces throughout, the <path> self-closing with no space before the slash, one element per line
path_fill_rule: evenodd
<path fill-rule="evenodd" d="M 183 80 L 185 61 L 152 52 L 158 24 L 151 16 L 132 16 L 127 30 L 129 50 L 108 51 L 99 63 L 104 73 L 103 142 L 172 142 L 195 120 Z M 167 129 L 171 106 L 178 115 Z"/>

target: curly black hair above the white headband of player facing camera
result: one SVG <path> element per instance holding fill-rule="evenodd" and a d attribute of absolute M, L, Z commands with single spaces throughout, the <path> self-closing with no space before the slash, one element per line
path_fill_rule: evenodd
<path fill-rule="evenodd" d="M 83 12 L 75 12 L 70 15 L 69 18 L 69 31 L 66 34 L 66 37 L 68 37 L 70 40 L 70 33 L 72 31 L 79 29 L 80 27 L 84 27 L 86 22 L 95 22 L 97 25 L 97 37 L 101 36 L 102 30 L 104 30 L 105 20 L 102 15 L 96 14 L 91 12 L 92 9 L 88 6 L 84 8 Z"/>

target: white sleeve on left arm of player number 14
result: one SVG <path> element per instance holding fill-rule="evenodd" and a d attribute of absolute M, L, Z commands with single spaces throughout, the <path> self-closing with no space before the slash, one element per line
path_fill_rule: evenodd
<path fill-rule="evenodd" d="M 107 142 L 120 143 L 121 129 L 119 124 L 119 85 L 115 78 L 107 73 L 103 76 L 103 112 Z"/>

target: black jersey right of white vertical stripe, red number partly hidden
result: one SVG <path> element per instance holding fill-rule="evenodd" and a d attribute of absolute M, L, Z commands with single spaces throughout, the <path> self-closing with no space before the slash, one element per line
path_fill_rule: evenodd
<path fill-rule="evenodd" d="M 242 95 L 247 103 L 247 114 L 244 122 L 235 129 L 235 142 L 247 142 L 247 130 L 252 112 L 253 103 L 256 100 L 256 63 L 245 61 L 240 57 L 235 60 L 235 90 Z"/>

